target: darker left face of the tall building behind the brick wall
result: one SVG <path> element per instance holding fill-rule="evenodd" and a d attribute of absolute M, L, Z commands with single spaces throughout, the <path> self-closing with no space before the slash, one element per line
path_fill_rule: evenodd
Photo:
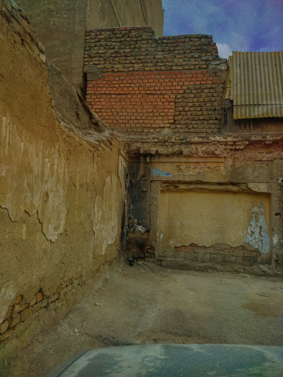
<path fill-rule="evenodd" d="M 87 0 L 18 0 L 46 48 L 46 55 L 83 93 L 83 51 Z"/>

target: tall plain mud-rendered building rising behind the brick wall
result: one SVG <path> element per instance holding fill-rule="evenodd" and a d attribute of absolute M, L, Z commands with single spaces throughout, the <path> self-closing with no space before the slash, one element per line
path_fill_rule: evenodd
<path fill-rule="evenodd" d="M 119 27 L 117 17 L 122 26 L 146 24 L 140 0 L 18 0 L 16 3 L 27 13 L 46 55 L 81 94 L 85 94 L 86 29 Z M 161 0 L 143 0 L 143 4 L 150 24 L 158 35 L 163 35 Z"/>

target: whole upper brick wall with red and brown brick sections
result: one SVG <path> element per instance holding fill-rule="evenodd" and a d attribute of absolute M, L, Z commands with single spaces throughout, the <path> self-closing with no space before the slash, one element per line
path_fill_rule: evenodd
<path fill-rule="evenodd" d="M 119 131 L 219 132 L 220 66 L 211 36 L 156 38 L 151 27 L 86 32 L 87 103 Z"/>

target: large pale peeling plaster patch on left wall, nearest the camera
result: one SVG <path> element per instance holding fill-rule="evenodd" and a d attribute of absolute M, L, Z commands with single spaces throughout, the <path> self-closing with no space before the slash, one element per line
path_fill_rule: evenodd
<path fill-rule="evenodd" d="M 36 211 L 42 232 L 55 242 L 67 213 L 68 174 L 59 143 L 24 134 L 3 116 L 0 122 L 0 206 L 12 221 Z"/>

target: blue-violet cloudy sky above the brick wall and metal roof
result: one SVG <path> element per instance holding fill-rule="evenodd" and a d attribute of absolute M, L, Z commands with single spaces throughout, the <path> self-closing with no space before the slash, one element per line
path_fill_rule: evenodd
<path fill-rule="evenodd" d="M 283 50 L 283 0 L 162 0 L 164 35 L 208 34 L 221 58 Z"/>

